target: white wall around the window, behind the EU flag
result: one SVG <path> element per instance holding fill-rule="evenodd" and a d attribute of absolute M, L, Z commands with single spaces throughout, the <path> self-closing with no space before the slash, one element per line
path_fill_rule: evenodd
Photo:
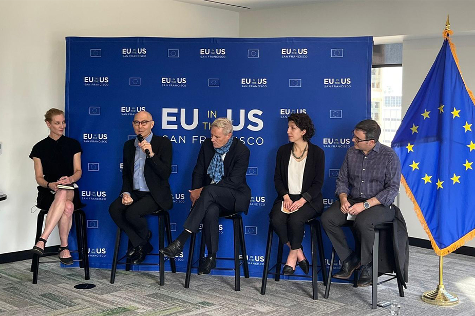
<path fill-rule="evenodd" d="M 403 116 L 442 46 L 447 14 L 455 32 L 460 66 L 475 90 L 475 1 L 328 1 L 314 5 L 240 13 L 241 37 L 375 36 L 378 43 L 403 43 Z M 459 36 L 457 36 L 459 34 Z M 400 205 L 409 236 L 428 239 L 412 202 L 401 188 Z M 475 247 L 475 239 L 467 246 Z"/>

